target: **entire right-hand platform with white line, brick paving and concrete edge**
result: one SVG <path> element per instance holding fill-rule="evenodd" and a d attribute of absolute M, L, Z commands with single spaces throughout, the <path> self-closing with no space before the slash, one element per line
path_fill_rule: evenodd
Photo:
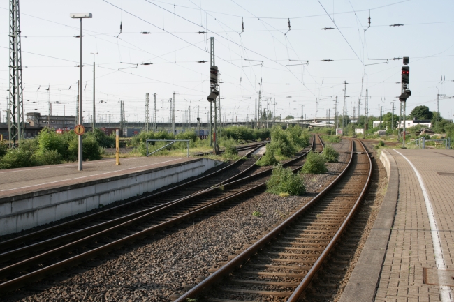
<path fill-rule="evenodd" d="M 454 301 L 454 151 L 381 161 L 387 192 L 340 301 Z"/>

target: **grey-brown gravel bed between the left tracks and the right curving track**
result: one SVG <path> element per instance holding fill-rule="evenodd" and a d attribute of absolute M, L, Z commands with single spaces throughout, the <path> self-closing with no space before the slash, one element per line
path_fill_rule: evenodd
<path fill-rule="evenodd" d="M 346 161 L 349 142 L 333 144 L 341 163 L 328 164 L 328 174 L 306 174 L 307 193 L 302 197 L 279 197 L 261 193 L 224 206 L 168 229 L 141 243 L 131 244 L 108 257 L 110 260 L 60 273 L 54 280 L 36 283 L 41 292 L 21 289 L 4 301 L 170 301 L 221 266 L 229 255 L 243 250 L 256 236 L 284 220 L 306 204 L 335 177 Z M 252 216 L 258 211 L 260 216 Z M 66 280 L 63 280 L 66 279 Z M 46 287 L 50 287 L 47 288 Z M 13 296 L 14 295 L 14 296 Z"/>

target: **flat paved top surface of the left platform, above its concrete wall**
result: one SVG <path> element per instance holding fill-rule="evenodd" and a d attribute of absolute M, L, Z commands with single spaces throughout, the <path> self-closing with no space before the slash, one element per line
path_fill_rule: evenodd
<path fill-rule="evenodd" d="M 78 163 L 0 170 L 0 199 L 151 169 L 163 169 L 193 160 L 197 159 L 150 156 L 120 158 L 120 165 L 115 165 L 115 158 L 108 158 L 84 162 L 83 171 L 78 171 Z"/>

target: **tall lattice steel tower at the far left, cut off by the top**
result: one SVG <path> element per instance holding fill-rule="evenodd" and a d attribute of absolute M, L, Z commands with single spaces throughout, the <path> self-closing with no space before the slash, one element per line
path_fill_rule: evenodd
<path fill-rule="evenodd" d="M 8 108 L 10 147 L 24 137 L 24 102 L 22 98 L 22 54 L 20 45 L 19 0 L 10 0 L 10 98 Z M 13 144 L 11 143 L 13 142 Z"/>

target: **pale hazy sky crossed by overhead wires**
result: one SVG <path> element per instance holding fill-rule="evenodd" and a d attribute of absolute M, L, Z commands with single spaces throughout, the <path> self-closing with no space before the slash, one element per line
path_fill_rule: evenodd
<path fill-rule="evenodd" d="M 2 122 L 8 3 L 0 0 Z M 402 59 L 394 58 L 402 56 L 409 56 L 410 66 L 407 113 L 418 105 L 436 110 L 439 93 L 446 95 L 439 100 L 441 116 L 453 119 L 453 11 L 454 1 L 423 0 L 20 0 L 24 112 L 47 114 L 50 102 L 53 115 L 62 115 L 63 107 L 75 115 L 80 22 L 69 15 L 89 12 L 93 18 L 82 21 L 85 122 L 92 114 L 93 64 L 97 121 L 119 121 L 124 100 L 126 120 L 143 122 L 145 93 L 151 108 L 156 93 L 157 121 L 167 122 L 175 91 L 177 122 L 189 107 L 192 122 L 198 110 L 205 122 L 210 37 L 223 121 L 254 118 L 258 91 L 262 107 L 282 117 L 303 112 L 312 119 L 330 110 L 332 118 L 336 96 L 342 114 L 345 95 L 349 116 L 353 108 L 358 115 L 358 100 L 363 115 L 366 89 L 369 115 L 390 112 L 392 102 L 397 113 Z"/>

